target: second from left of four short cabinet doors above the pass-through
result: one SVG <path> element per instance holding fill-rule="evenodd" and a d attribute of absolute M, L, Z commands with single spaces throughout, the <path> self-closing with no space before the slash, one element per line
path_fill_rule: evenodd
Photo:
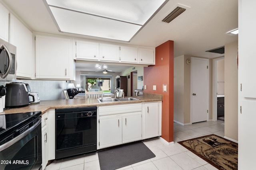
<path fill-rule="evenodd" d="M 119 61 L 119 46 L 100 43 L 100 60 Z"/>

